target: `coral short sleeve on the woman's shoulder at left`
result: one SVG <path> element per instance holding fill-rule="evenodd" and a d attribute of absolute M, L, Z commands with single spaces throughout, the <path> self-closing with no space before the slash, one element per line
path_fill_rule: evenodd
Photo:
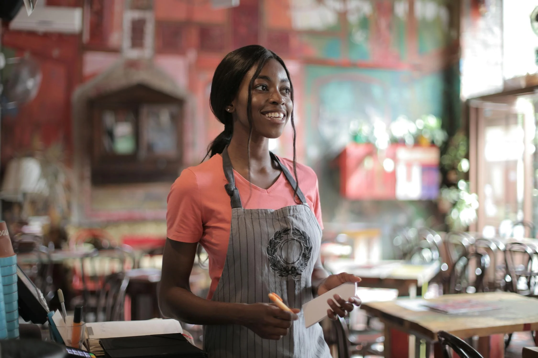
<path fill-rule="evenodd" d="M 202 238 L 202 204 L 195 174 L 183 170 L 170 189 L 166 209 L 166 236 L 185 243 Z"/>

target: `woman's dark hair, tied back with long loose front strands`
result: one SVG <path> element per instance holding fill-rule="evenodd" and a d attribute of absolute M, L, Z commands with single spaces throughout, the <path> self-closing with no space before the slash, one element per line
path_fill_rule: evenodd
<path fill-rule="evenodd" d="M 211 144 L 209 144 L 207 156 L 213 157 L 215 154 L 221 154 L 226 145 L 230 144 L 233 135 L 233 119 L 232 114 L 226 111 L 226 106 L 229 106 L 233 99 L 236 98 L 239 86 L 243 81 L 246 73 L 257 64 L 256 72 L 252 76 L 249 84 L 249 99 L 247 101 L 246 115 L 249 120 L 250 133 L 249 133 L 249 150 L 250 157 L 250 135 L 252 134 L 252 85 L 254 79 L 258 77 L 261 69 L 264 67 L 267 60 L 277 60 L 284 70 L 289 79 L 290 96 L 293 102 L 293 85 L 292 80 L 289 77 L 289 72 L 286 64 L 282 59 L 263 46 L 249 45 L 245 47 L 233 50 L 224 57 L 221 63 L 218 64 L 215 74 L 213 75 L 213 81 L 211 82 L 211 93 L 209 95 L 209 101 L 211 104 L 211 111 L 215 114 L 216 118 L 223 123 L 224 130 L 219 134 Z M 296 150 L 295 150 L 295 122 L 293 121 L 293 111 L 291 113 L 291 122 L 293 128 L 293 173 L 295 181 L 298 182 L 297 169 L 296 169 Z M 250 164 L 249 164 L 250 168 Z M 249 169 L 250 177 L 250 169 Z M 250 181 L 250 178 L 249 178 Z M 297 188 L 299 184 L 295 185 L 294 195 L 297 194 Z"/>

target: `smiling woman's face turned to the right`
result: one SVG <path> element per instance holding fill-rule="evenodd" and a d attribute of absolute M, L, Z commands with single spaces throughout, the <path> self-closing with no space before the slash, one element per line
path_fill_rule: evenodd
<path fill-rule="evenodd" d="M 236 123 L 249 130 L 246 106 L 249 101 L 249 84 L 256 72 L 254 65 L 243 78 L 237 98 L 233 100 Z M 284 67 L 274 59 L 268 60 L 252 85 L 252 134 L 265 138 L 278 138 L 293 111 L 291 86 Z"/>

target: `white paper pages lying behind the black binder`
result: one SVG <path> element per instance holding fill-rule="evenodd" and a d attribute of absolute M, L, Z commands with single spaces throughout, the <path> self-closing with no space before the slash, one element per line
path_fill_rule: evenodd
<path fill-rule="evenodd" d="M 175 319 L 150 319 L 87 323 L 88 339 L 134 337 L 136 335 L 183 333 Z"/>

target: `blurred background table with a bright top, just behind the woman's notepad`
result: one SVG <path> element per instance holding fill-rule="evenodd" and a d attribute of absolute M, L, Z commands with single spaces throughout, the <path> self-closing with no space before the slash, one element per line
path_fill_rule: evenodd
<path fill-rule="evenodd" d="M 381 260 L 375 264 L 357 265 L 350 259 L 325 261 L 325 267 L 333 274 L 348 272 L 359 276 L 360 287 L 395 288 L 399 295 L 416 297 L 417 287 L 426 293 L 428 282 L 440 271 L 441 264 L 435 261 L 427 265 L 412 265 L 402 260 Z"/>

